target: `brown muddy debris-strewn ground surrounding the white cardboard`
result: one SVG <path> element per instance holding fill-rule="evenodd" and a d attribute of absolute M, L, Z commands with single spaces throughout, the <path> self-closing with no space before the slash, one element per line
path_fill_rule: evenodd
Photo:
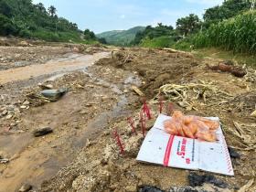
<path fill-rule="evenodd" d="M 59 48 L 59 53 L 66 51 L 64 46 Z M 84 69 L 47 72 L 2 85 L 0 155 L 9 162 L 0 164 L 1 192 L 16 191 L 26 183 L 35 191 L 137 191 L 144 185 L 169 191 L 188 186 L 191 171 L 135 160 L 144 137 L 139 125 L 138 134 L 132 133 L 127 117 L 139 124 L 142 98 L 131 88 L 139 87 L 150 103 L 154 118 L 146 123 L 149 130 L 158 114 L 159 88 L 165 84 L 208 85 L 207 91 L 195 88 L 197 98 L 193 91 L 176 100 L 162 92 L 165 107 L 171 101 L 186 114 L 219 116 L 228 145 L 240 153 L 240 159 L 232 159 L 235 176 L 215 175 L 228 184 L 227 188 L 206 185 L 203 189 L 236 191 L 255 177 L 256 119 L 251 116 L 256 103 L 255 70 L 245 67 L 248 74 L 237 78 L 208 69 L 207 64 L 221 60 L 197 59 L 190 53 L 144 48 L 104 51 L 109 55 L 102 57 L 108 58 L 97 57 L 100 60 L 94 65 L 85 60 Z M 74 48 L 68 52 L 73 53 Z M 61 54 L 53 54 L 54 59 L 66 62 Z M 72 63 L 76 59 L 68 60 Z M 55 102 L 31 99 L 28 95 L 41 89 L 37 83 L 69 91 Z M 35 138 L 33 131 L 45 126 L 53 128 L 53 133 Z M 113 130 L 121 135 L 124 155 L 119 153 Z M 255 183 L 251 191 L 253 186 Z"/>

